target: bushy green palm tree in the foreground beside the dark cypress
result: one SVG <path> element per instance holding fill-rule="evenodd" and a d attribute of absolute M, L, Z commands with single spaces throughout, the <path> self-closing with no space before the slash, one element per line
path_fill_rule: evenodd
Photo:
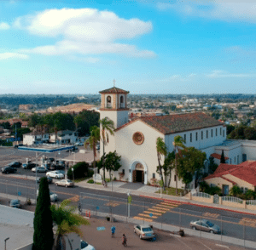
<path fill-rule="evenodd" d="M 56 207 L 55 205 L 50 207 L 52 219 L 57 226 L 55 250 L 66 250 L 65 237 L 67 238 L 70 248 L 73 249 L 72 243 L 69 241 L 67 235 L 69 233 L 77 233 L 79 236 L 82 236 L 79 225 L 90 224 L 84 217 L 73 213 L 76 207 L 69 206 L 70 202 L 71 201 L 64 200 L 61 202 L 60 207 Z"/>

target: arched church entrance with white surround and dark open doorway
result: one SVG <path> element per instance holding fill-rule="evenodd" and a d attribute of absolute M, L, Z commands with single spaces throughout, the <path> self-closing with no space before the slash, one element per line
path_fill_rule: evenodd
<path fill-rule="evenodd" d="M 130 182 L 147 184 L 147 165 L 140 159 L 134 160 L 130 168 Z"/>

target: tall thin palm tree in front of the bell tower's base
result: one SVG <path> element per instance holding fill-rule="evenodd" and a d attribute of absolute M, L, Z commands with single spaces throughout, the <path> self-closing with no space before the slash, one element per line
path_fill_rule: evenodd
<path fill-rule="evenodd" d="M 100 120 L 100 124 L 102 125 L 102 135 L 101 135 L 101 140 L 102 140 L 102 145 L 103 145 L 103 156 L 105 154 L 105 145 L 108 145 L 108 133 L 113 135 L 113 121 L 108 119 L 108 117 L 103 118 Z M 105 160 L 103 157 L 102 161 L 103 165 L 103 180 L 105 181 Z"/>

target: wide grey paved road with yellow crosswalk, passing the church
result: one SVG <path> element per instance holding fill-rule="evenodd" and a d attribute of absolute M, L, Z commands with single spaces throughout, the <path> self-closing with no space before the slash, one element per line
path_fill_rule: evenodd
<path fill-rule="evenodd" d="M 35 198 L 36 183 L 31 179 L 14 179 L 9 176 L 0 176 L 0 193 L 8 193 L 17 196 Z M 102 190 L 86 190 L 79 186 L 73 188 L 49 185 L 49 190 L 55 192 L 60 202 L 71 199 L 79 202 L 82 195 L 82 207 L 84 210 L 96 211 L 97 213 L 113 213 L 128 216 L 129 205 L 127 195 L 111 193 Z M 18 197 L 18 196 L 17 196 Z M 173 224 L 189 228 L 189 222 L 195 219 L 210 219 L 222 229 L 223 236 L 231 236 L 239 239 L 255 241 L 256 219 L 250 214 L 227 212 L 224 210 L 198 207 L 184 202 L 160 201 L 148 197 L 132 196 L 130 217 L 142 220 L 142 222 Z M 245 226 L 244 226 L 245 224 Z"/>

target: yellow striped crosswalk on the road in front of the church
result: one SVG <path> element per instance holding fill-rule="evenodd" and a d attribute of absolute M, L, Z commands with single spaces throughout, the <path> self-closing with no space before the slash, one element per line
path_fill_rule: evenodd
<path fill-rule="evenodd" d="M 152 222 L 153 219 L 157 219 L 159 216 L 170 211 L 174 207 L 178 207 L 182 203 L 183 202 L 177 202 L 177 201 L 160 202 L 159 204 L 155 205 L 154 207 L 149 207 L 143 213 L 137 214 L 137 216 L 135 216 L 133 218 L 144 220 L 147 222 Z"/>

